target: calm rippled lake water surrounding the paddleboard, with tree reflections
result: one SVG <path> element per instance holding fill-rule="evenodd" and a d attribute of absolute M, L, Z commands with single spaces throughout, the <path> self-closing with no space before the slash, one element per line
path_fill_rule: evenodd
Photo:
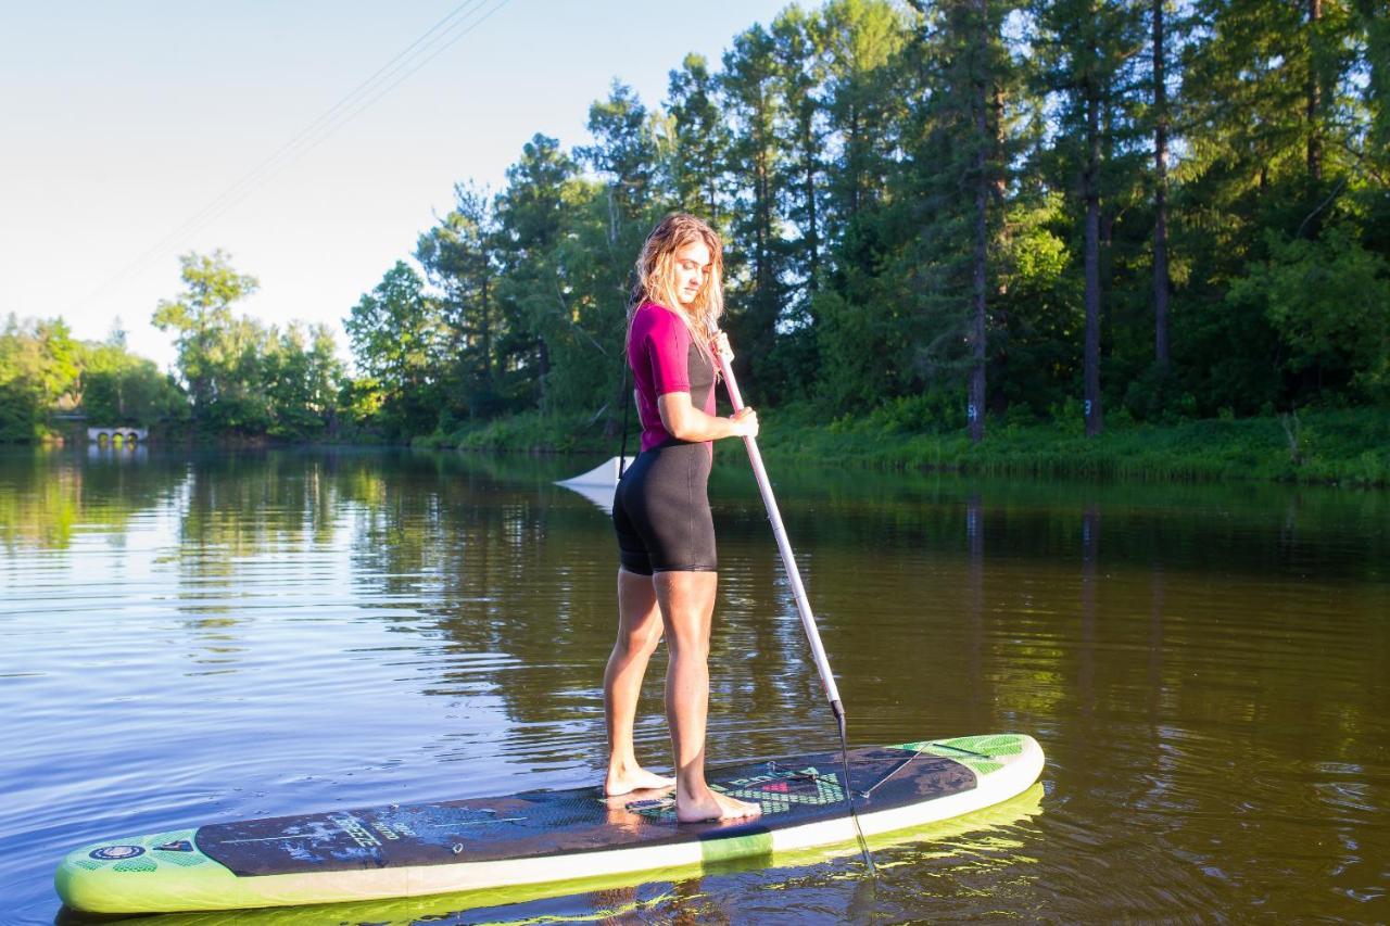
<path fill-rule="evenodd" d="M 838 745 L 746 460 L 712 481 L 712 762 Z M 0 922 L 85 843 L 596 783 L 596 460 L 0 455 Z M 852 744 L 1041 786 L 856 855 L 481 908 L 160 923 L 1390 919 L 1390 496 L 773 467 Z M 666 766 L 664 660 L 639 754 Z"/>

